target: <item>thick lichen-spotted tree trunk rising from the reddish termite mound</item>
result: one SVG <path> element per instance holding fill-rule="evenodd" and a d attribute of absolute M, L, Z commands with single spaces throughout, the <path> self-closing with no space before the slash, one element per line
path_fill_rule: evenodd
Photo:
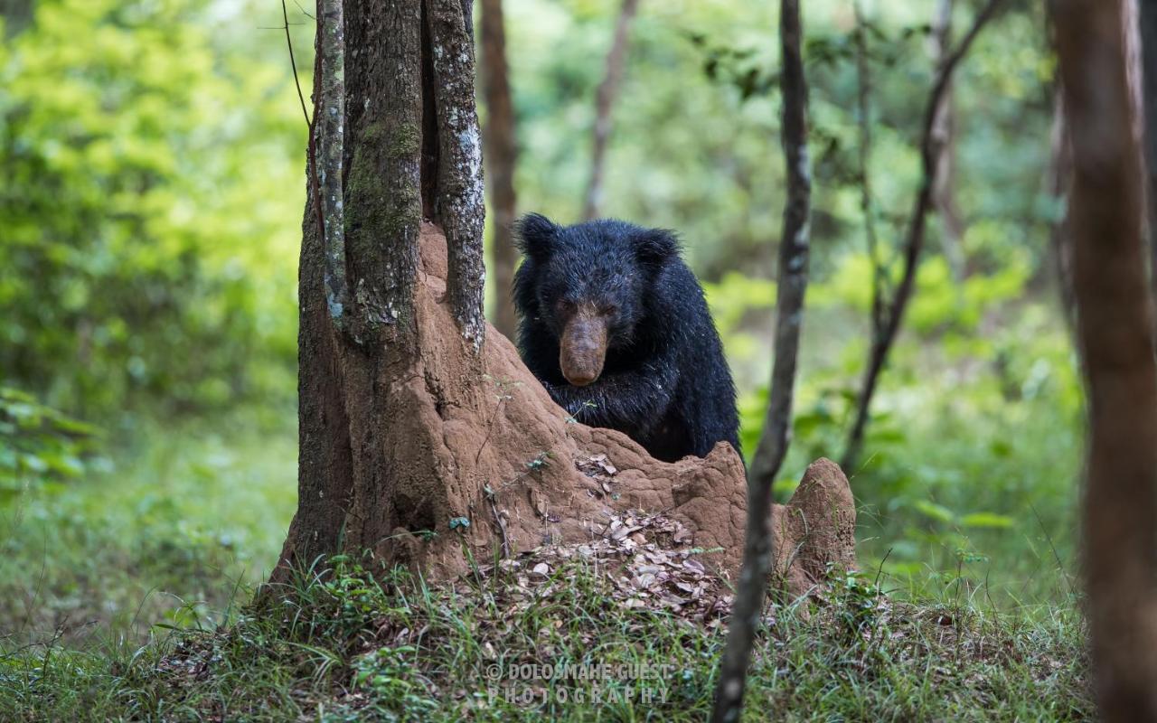
<path fill-rule="evenodd" d="M 344 27 L 336 27 L 341 5 L 317 7 L 323 213 L 318 223 L 311 195 L 299 279 L 299 511 L 274 582 L 289 565 L 319 554 L 384 554 L 391 530 L 426 529 L 445 507 L 444 490 L 414 479 L 435 467 L 430 450 L 391 434 L 421 401 L 399 388 L 412 384 L 407 372 L 421 359 L 415 288 L 423 208 L 448 237 L 448 296 L 463 363 L 482 339 L 481 149 L 463 6 L 348 0 Z M 342 29 L 353 52 L 329 45 Z"/>

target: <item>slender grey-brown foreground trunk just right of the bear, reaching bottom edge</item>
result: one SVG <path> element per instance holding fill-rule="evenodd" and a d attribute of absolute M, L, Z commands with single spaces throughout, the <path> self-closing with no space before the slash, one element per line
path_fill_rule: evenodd
<path fill-rule="evenodd" d="M 808 157 L 808 81 L 804 76 L 803 29 L 798 0 L 780 2 L 780 49 L 783 95 L 783 155 L 788 199 L 780 239 L 779 290 L 775 322 L 775 364 L 764 434 L 747 470 L 747 536 L 739 590 L 731 610 L 727 650 L 715 688 L 712 720 L 738 721 L 747 666 L 767 595 L 774 549 L 772 543 L 772 484 L 783 464 L 791 438 L 791 400 L 795 390 L 804 293 L 808 289 L 808 221 L 811 212 L 811 168 Z"/>

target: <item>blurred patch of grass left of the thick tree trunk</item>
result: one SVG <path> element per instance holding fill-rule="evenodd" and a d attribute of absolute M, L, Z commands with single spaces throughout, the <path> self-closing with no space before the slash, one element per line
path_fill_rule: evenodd
<path fill-rule="evenodd" d="M 143 640 L 264 578 L 296 501 L 296 438 L 250 418 L 142 426 L 111 470 L 0 508 L 0 644 Z"/>

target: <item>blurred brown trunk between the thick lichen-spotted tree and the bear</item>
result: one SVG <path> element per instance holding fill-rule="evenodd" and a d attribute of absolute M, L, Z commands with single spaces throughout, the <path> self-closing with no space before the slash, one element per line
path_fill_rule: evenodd
<path fill-rule="evenodd" d="M 515 134 L 514 103 L 510 94 L 510 71 L 506 57 L 506 29 L 502 0 L 482 0 L 482 97 L 486 99 L 486 126 L 482 141 L 486 171 L 489 177 L 492 228 L 491 270 L 494 273 L 494 326 L 514 339 L 515 312 L 510 288 L 518 259 L 514 246 L 513 224 L 516 214 L 514 172 L 518 146 Z"/>

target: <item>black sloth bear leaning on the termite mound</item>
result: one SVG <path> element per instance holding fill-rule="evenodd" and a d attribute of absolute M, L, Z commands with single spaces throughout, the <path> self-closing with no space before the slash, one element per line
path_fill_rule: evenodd
<path fill-rule="evenodd" d="M 675 234 L 538 214 L 516 231 L 518 351 L 559 406 L 664 462 L 739 451 L 731 372 Z"/>

